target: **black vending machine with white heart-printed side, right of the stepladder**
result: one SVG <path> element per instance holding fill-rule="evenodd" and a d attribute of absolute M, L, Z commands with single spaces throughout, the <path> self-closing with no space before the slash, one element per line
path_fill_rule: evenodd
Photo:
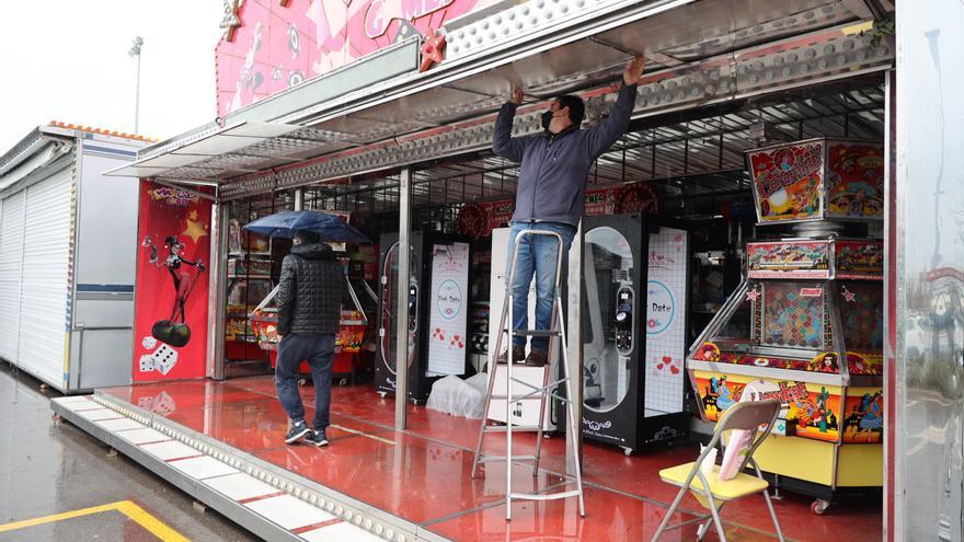
<path fill-rule="evenodd" d="M 627 454 L 685 438 L 689 234 L 639 214 L 583 228 L 583 434 Z"/>

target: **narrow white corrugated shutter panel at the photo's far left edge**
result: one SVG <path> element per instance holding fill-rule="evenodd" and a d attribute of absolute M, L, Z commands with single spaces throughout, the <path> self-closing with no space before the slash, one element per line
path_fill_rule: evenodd
<path fill-rule="evenodd" d="M 20 338 L 24 201 L 24 193 L 14 194 L 3 199 L 0 211 L 0 357 L 14 364 Z"/>

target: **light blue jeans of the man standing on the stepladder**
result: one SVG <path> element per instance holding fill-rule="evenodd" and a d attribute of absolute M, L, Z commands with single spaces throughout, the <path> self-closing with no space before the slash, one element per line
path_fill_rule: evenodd
<path fill-rule="evenodd" d="M 562 262 L 576 234 L 573 226 L 560 222 L 513 222 L 508 234 L 508 256 L 505 276 L 512 272 L 512 256 L 516 238 L 523 230 L 552 231 L 562 238 Z M 529 321 L 529 285 L 536 277 L 536 330 L 549 330 L 552 325 L 552 300 L 555 295 L 555 264 L 559 242 L 549 235 L 526 235 L 519 240 L 519 255 L 513 280 L 513 330 L 527 330 Z M 514 346 L 526 346 L 526 337 L 513 337 Z M 533 350 L 549 350 L 549 337 L 532 337 Z"/>

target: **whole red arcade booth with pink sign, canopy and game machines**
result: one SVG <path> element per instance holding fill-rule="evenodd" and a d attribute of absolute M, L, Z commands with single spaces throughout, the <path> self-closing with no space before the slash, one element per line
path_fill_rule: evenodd
<path fill-rule="evenodd" d="M 262 538 L 323 540 L 334 521 L 345 540 L 646 540 L 675 495 L 659 470 L 696 458 L 708 424 L 753 385 L 784 403 L 781 435 L 757 458 L 785 494 L 787 537 L 880 538 L 891 435 L 880 424 L 891 405 L 881 142 L 895 58 L 884 19 L 829 0 L 455 0 L 420 4 L 431 12 L 413 21 L 376 4 L 322 18 L 341 8 L 243 2 L 219 46 L 219 122 L 116 171 L 174 186 L 181 197 L 150 212 L 206 209 L 185 257 L 207 255 L 211 286 L 191 299 L 191 344 L 174 348 L 181 380 L 148 374 L 93 401 L 204 455 L 173 463 L 217 463 L 245 491 L 188 480 L 209 471 L 159 462 L 83 412 L 64 415 Z M 322 35 L 322 22 L 351 32 Z M 573 93 L 590 127 L 638 53 L 647 66 L 630 128 L 590 170 L 562 285 L 578 430 L 564 430 L 559 405 L 542 420 L 523 404 L 486 420 L 427 408 L 435 382 L 498 377 L 492 320 L 520 165 L 491 151 L 496 112 L 524 87 L 513 134 L 539 137 L 552 99 Z M 370 364 L 372 378 L 334 387 L 325 449 L 282 439 L 266 298 L 289 246 L 231 234 L 301 209 L 347 214 L 378 241 L 345 247 L 355 296 L 344 330 L 364 334 L 341 356 Z M 147 335 L 136 328 L 135 359 L 158 348 Z M 401 382 L 408 396 L 395 397 Z M 470 476 L 481 423 L 532 422 L 552 437 L 539 470 L 514 465 L 508 481 L 491 463 Z M 535 437 L 514 437 L 515 450 L 529 453 Z M 504 441 L 494 435 L 486 452 L 504 453 Z M 514 503 L 505 521 L 508 491 L 569 493 L 575 461 L 585 518 L 564 499 Z M 812 496 L 851 491 L 863 498 L 813 517 L 826 503 L 812 511 Z M 273 505 L 282 497 L 291 506 Z M 296 506 L 311 519 L 273 516 Z M 769 529 L 753 505 L 727 510 L 734 539 Z"/>

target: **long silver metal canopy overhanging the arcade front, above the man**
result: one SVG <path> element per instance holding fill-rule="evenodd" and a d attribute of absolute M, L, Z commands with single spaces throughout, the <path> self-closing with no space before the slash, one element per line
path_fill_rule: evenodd
<path fill-rule="evenodd" d="M 556 22 L 566 9 L 585 13 Z M 236 198 L 463 155 L 489 147 L 493 114 L 512 85 L 524 87 L 533 104 L 520 109 L 518 135 L 539 129 L 537 102 L 565 92 L 583 92 L 587 120 L 598 119 L 613 99 L 605 84 L 619 79 L 634 51 L 650 59 L 636 118 L 852 77 L 893 61 L 892 46 L 850 27 L 868 15 L 860 0 L 531 0 L 451 22 L 447 59 L 429 72 L 306 103 L 278 122 L 187 135 L 110 174 L 219 185 L 219 198 Z M 495 38 L 479 39 L 485 35 Z M 655 161 L 636 159 L 650 160 L 654 172 L 675 154 L 702 160 L 701 169 L 714 159 L 663 145 Z M 734 143 L 721 148 L 723 162 L 739 154 Z M 600 160 L 604 176 L 609 162 Z M 413 178 L 421 203 L 418 183 Z"/>

